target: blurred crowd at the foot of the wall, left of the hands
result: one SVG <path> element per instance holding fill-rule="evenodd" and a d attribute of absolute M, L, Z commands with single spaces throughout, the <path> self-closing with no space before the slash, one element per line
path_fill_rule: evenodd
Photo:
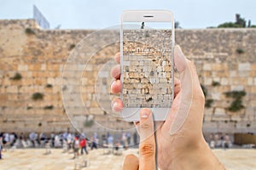
<path fill-rule="evenodd" d="M 131 142 L 133 139 L 133 143 Z M 87 137 L 85 133 L 0 133 L 0 159 L 1 151 L 9 148 L 63 148 L 65 151 L 73 150 L 74 157 L 88 154 L 90 150 L 98 147 L 115 147 L 123 146 L 127 149 L 131 143 L 137 146 L 137 133 L 102 133 L 99 137 L 97 133 L 93 133 L 91 137 Z"/>

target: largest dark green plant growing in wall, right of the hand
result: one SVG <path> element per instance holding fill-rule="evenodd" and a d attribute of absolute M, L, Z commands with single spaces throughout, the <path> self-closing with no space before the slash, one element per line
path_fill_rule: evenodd
<path fill-rule="evenodd" d="M 246 92 L 244 90 L 230 91 L 224 94 L 227 98 L 233 99 L 230 106 L 227 108 L 229 111 L 236 112 L 236 111 L 241 111 L 241 109 L 244 108 L 244 105 L 242 105 L 242 99 L 246 95 Z"/>

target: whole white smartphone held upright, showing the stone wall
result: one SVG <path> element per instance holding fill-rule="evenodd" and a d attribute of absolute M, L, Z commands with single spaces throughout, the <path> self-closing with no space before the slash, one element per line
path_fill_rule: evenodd
<path fill-rule="evenodd" d="M 121 16 L 121 116 L 139 121 L 150 109 L 164 121 L 172 107 L 174 86 L 174 19 L 168 10 L 127 10 Z"/>

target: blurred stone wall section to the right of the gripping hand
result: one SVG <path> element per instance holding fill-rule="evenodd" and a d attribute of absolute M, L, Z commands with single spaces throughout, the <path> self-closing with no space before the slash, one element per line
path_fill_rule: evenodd
<path fill-rule="evenodd" d="M 205 132 L 256 132 L 256 30 L 176 31 L 176 42 L 195 62 L 201 84 L 212 100 L 204 116 Z M 229 111 L 234 99 L 225 93 L 245 91 L 240 111 Z M 236 103 L 237 104 L 237 103 Z"/>

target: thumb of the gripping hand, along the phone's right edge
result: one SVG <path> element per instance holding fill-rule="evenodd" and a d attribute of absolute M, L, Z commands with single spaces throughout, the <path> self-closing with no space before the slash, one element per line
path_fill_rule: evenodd
<path fill-rule="evenodd" d="M 188 118 L 190 118 L 190 120 L 191 117 L 202 119 L 204 106 L 203 104 L 201 105 L 201 103 L 204 102 L 204 97 L 202 97 L 203 94 L 195 65 L 189 61 L 189 59 L 185 58 L 179 46 L 175 46 L 174 59 L 175 66 L 180 76 L 181 90 L 180 94 L 178 94 L 179 98 L 173 100 L 171 113 L 169 114 L 169 123 L 167 124 L 171 126 L 171 135 L 177 133 Z M 193 116 L 189 116 L 190 112 L 190 115 Z M 187 124 L 190 127 L 191 122 Z M 197 126 L 194 127 L 201 128 L 201 123 L 197 123 L 196 125 Z"/>

